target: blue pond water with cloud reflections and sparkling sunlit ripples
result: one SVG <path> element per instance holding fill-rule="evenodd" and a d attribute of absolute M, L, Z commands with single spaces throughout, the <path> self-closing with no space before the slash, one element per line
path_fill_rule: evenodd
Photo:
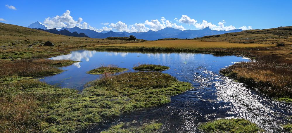
<path fill-rule="evenodd" d="M 44 77 L 43 82 L 63 88 L 82 91 L 84 85 L 99 78 L 86 72 L 103 65 L 118 65 L 133 70 L 139 63 L 169 66 L 163 71 L 180 81 L 191 82 L 193 89 L 171 97 L 171 102 L 162 106 L 136 111 L 121 116 L 115 122 L 93 127 L 87 132 L 100 132 L 118 122 L 163 123 L 162 132 L 199 132 L 200 122 L 218 118 L 244 118 L 256 123 L 267 132 L 282 132 L 280 123 L 292 115 L 292 105 L 273 101 L 244 84 L 219 74 L 219 70 L 236 62 L 249 61 L 234 55 L 213 55 L 206 53 L 140 53 L 73 51 L 56 56 L 52 60 L 71 59 L 80 61 L 63 67 L 64 72 Z"/>

